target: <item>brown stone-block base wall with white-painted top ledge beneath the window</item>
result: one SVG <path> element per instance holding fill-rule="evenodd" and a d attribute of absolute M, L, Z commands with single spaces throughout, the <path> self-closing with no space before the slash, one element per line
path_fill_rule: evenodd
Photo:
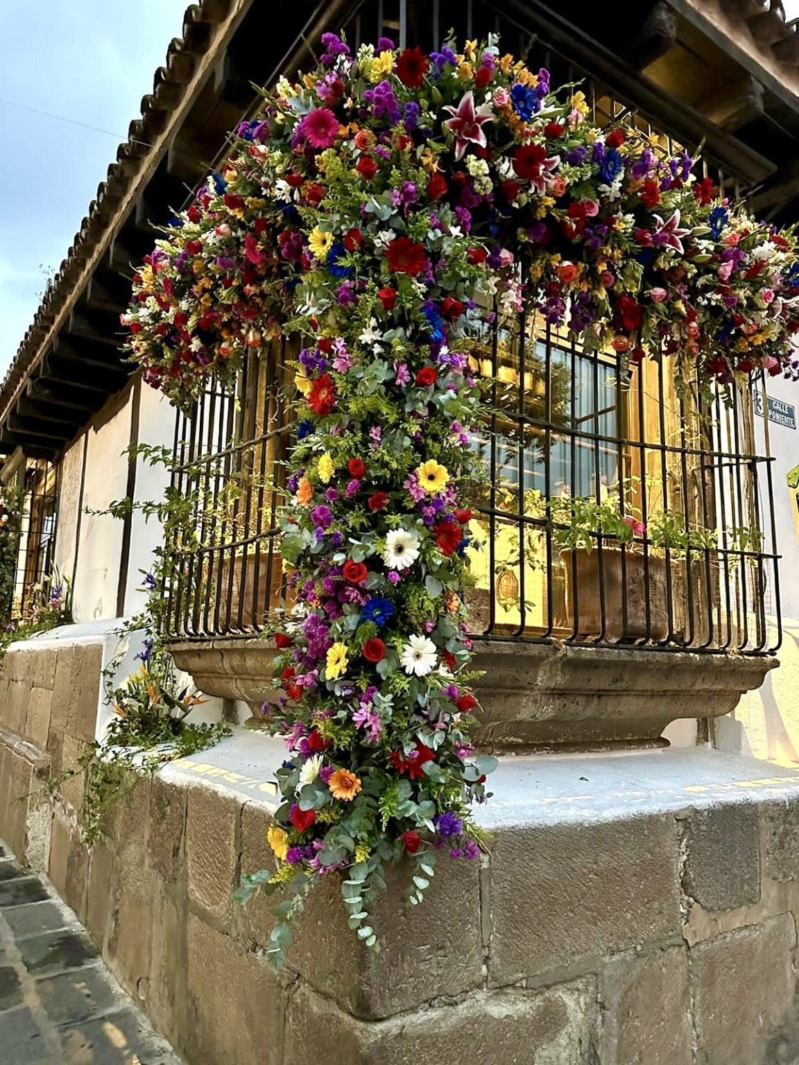
<path fill-rule="evenodd" d="M 140 781 L 91 852 L 78 781 L 54 806 L 16 801 L 94 735 L 98 654 L 6 658 L 0 836 L 186 1065 L 799 1060 L 799 773 L 710 751 L 504 758 L 489 856 L 442 856 L 423 906 L 384 897 L 380 954 L 331 878 L 278 978 L 268 901 L 231 892 L 270 862 L 279 744 L 240 733 Z"/>

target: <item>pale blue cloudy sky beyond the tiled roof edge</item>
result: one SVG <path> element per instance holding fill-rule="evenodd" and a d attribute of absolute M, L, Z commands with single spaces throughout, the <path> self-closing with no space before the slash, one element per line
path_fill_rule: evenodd
<path fill-rule="evenodd" d="M 187 0 L 0 3 L 0 378 L 104 179 Z M 74 122 L 10 106 L 25 104 Z"/>

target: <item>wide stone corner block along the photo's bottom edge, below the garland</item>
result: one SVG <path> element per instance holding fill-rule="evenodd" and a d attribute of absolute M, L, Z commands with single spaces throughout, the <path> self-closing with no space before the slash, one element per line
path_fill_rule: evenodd
<path fill-rule="evenodd" d="M 316 1065 L 324 1047 L 326 1065 L 597 1065 L 597 1029 L 592 980 L 480 992 L 457 1005 L 378 1023 L 341 1013 L 300 984 L 289 1005 L 286 1062 Z"/>

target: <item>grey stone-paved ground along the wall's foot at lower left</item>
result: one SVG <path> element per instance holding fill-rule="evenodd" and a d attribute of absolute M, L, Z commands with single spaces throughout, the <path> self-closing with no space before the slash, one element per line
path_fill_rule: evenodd
<path fill-rule="evenodd" d="M 180 1065 L 75 915 L 0 842 L 1 1065 Z"/>

